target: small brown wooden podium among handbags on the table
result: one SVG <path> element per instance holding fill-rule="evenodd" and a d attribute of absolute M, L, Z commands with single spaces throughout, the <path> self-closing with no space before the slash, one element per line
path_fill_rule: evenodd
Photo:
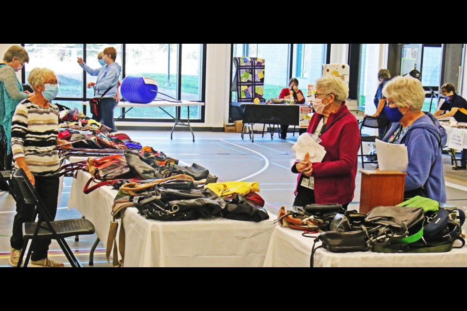
<path fill-rule="evenodd" d="M 397 171 L 364 171 L 361 173 L 360 213 L 373 207 L 395 206 L 404 201 L 406 173 Z"/>

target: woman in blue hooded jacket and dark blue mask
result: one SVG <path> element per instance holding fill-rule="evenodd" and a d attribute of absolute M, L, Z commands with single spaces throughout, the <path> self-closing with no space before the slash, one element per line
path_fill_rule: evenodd
<path fill-rule="evenodd" d="M 441 135 L 437 124 L 421 111 L 422 84 L 411 76 L 395 77 L 384 86 L 383 95 L 388 101 L 386 115 L 394 121 L 383 140 L 404 144 L 409 156 L 404 198 L 421 195 L 446 202 Z"/>

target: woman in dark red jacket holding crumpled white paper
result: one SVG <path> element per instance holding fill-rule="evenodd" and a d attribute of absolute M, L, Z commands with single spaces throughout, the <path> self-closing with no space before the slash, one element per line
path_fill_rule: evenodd
<path fill-rule="evenodd" d="M 348 96 L 349 87 L 335 76 L 316 82 L 316 113 L 307 132 L 321 138 L 326 155 L 322 162 L 310 162 L 305 155 L 293 165 L 292 172 L 299 174 L 293 205 L 342 204 L 347 208 L 352 202 L 360 134 L 357 119 L 345 105 Z"/>

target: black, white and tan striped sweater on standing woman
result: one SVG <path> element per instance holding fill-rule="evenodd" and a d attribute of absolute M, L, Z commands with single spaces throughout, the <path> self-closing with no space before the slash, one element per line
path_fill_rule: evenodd
<path fill-rule="evenodd" d="M 24 100 L 13 115 L 11 148 L 13 158 L 24 156 L 29 171 L 37 176 L 58 173 L 58 107 L 49 108 Z M 18 164 L 15 163 L 18 169 Z"/>

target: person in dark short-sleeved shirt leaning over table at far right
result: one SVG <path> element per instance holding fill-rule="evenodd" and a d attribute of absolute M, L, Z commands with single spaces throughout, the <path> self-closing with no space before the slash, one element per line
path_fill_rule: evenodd
<path fill-rule="evenodd" d="M 445 83 L 441 86 L 440 93 L 444 96 L 445 102 L 434 113 L 436 119 L 454 117 L 457 122 L 467 122 L 467 101 L 457 95 L 455 87 L 450 83 Z M 462 150 L 461 165 L 452 169 L 467 169 L 467 149 Z"/>

